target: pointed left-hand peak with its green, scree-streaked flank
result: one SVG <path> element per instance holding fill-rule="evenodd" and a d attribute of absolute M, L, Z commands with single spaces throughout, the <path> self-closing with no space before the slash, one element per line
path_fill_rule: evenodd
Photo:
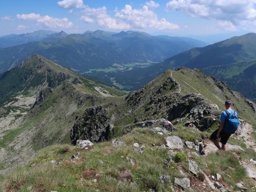
<path fill-rule="evenodd" d="M 54 142 L 70 142 L 70 126 L 89 106 L 123 92 L 87 80 L 37 54 L 0 75 L 0 159 L 8 168 Z M 10 160 L 9 160 L 10 159 Z"/>

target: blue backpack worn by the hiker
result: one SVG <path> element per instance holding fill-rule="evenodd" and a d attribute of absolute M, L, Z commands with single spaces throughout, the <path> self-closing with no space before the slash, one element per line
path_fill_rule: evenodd
<path fill-rule="evenodd" d="M 225 111 L 228 114 L 228 118 L 225 121 L 225 125 L 224 125 L 224 131 L 226 132 L 230 132 L 230 133 L 235 133 L 240 122 L 238 120 L 237 117 L 237 113 L 233 110 L 233 113 L 229 113 L 228 110 Z"/>

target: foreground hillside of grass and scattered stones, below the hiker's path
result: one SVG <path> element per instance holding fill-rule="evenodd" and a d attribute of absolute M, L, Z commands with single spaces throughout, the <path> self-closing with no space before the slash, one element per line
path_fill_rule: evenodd
<path fill-rule="evenodd" d="M 0 190 L 217 192 L 220 191 L 215 187 L 218 182 L 218 188 L 221 184 L 223 191 L 246 189 L 255 192 L 255 181 L 247 176 L 246 168 L 240 163 L 247 162 L 246 166 L 255 167 L 248 160 L 256 160 L 256 152 L 246 147 L 242 138 L 230 138 L 229 143 L 238 144 L 244 151 L 237 149 L 223 152 L 214 149 L 202 156 L 195 149 L 185 146 L 182 149 L 170 149 L 165 138 L 170 135 L 181 136 L 183 143 L 190 141 L 196 144 L 196 140 L 202 140 L 207 134 L 178 126 L 178 131 L 160 135 L 149 128 L 134 128 L 131 133 L 116 138 L 120 146 L 108 141 L 94 143 L 87 150 L 67 144 L 44 148 L 29 164 L 10 175 L 2 176 Z M 204 141 L 204 150 L 209 150 L 210 143 Z M 141 153 L 136 152 L 139 148 Z M 129 158 L 134 160 L 133 164 Z M 197 168 L 192 171 L 187 160 L 196 164 Z M 220 179 L 217 180 L 216 174 Z M 184 189 L 176 184 L 178 178 L 186 178 L 189 187 Z M 239 188 L 236 183 L 242 183 L 242 187 Z"/>

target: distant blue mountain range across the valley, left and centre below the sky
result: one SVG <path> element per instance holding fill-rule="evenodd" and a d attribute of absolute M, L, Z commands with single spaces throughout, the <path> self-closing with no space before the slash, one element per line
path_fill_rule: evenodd
<path fill-rule="evenodd" d="M 8 38 L 1 40 L 8 41 Z M 128 70 L 131 66 L 147 66 L 204 45 L 190 38 L 163 38 L 134 31 L 113 34 L 97 30 L 70 35 L 62 31 L 44 36 L 40 41 L 0 48 L 0 72 L 17 66 L 34 53 L 81 73 L 99 68 Z"/>

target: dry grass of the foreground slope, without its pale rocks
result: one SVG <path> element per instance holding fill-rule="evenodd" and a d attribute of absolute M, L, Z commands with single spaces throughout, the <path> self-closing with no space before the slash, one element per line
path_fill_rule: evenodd
<path fill-rule="evenodd" d="M 173 132 L 172 135 L 181 136 L 185 141 L 187 138 L 184 131 L 192 136 L 192 141 L 202 137 L 201 132 L 187 130 L 181 126 L 179 131 Z M 50 146 L 40 150 L 26 166 L 20 167 L 10 175 L 2 176 L 0 189 L 3 192 L 9 190 L 13 192 L 31 190 L 94 192 L 96 189 L 105 192 L 140 192 L 150 189 L 167 192 L 172 191 L 170 185 L 174 186 L 174 177 L 184 177 L 179 170 L 188 174 L 188 178 L 191 181 L 194 180 L 198 186 L 201 183 L 200 178 L 190 173 L 187 162 L 171 162 L 170 167 L 163 163 L 163 159 L 168 159 L 169 154 L 166 149 L 157 150 L 156 148 L 165 144 L 164 137 L 166 136 L 168 135 L 154 134 L 148 128 L 135 128 L 131 133 L 119 138 L 127 144 L 120 148 L 113 147 L 109 141 L 95 143 L 89 150 L 76 149 L 66 144 Z M 134 143 L 145 146 L 142 154 L 134 152 Z M 156 144 L 155 147 L 152 146 L 153 143 Z M 192 156 L 192 160 L 206 175 L 220 174 L 223 178 L 222 182 L 225 182 L 225 187 L 231 188 L 232 186 L 234 190 L 238 190 L 236 183 L 242 181 L 244 187 L 248 188 L 247 191 L 253 192 L 254 182 L 246 177 L 245 169 L 234 157 L 234 152 L 240 154 L 244 160 L 248 158 L 256 160 L 256 153 L 242 144 L 241 146 L 245 152 L 234 150 L 218 152 L 218 154 L 212 153 L 208 156 Z M 191 150 L 184 148 L 183 151 L 188 154 Z M 76 154 L 76 152 L 80 152 L 78 155 L 80 159 L 70 160 L 72 154 Z M 126 157 L 135 160 L 134 166 Z M 50 160 L 59 161 L 61 165 L 56 166 Z M 104 164 L 98 160 L 102 160 Z M 206 163 L 208 168 L 200 163 Z M 123 180 L 122 173 L 124 172 L 127 180 Z M 158 178 L 161 174 L 170 176 L 170 184 L 159 182 Z M 92 180 L 95 178 L 97 181 L 93 182 Z M 192 186 L 192 188 L 194 187 Z"/>

